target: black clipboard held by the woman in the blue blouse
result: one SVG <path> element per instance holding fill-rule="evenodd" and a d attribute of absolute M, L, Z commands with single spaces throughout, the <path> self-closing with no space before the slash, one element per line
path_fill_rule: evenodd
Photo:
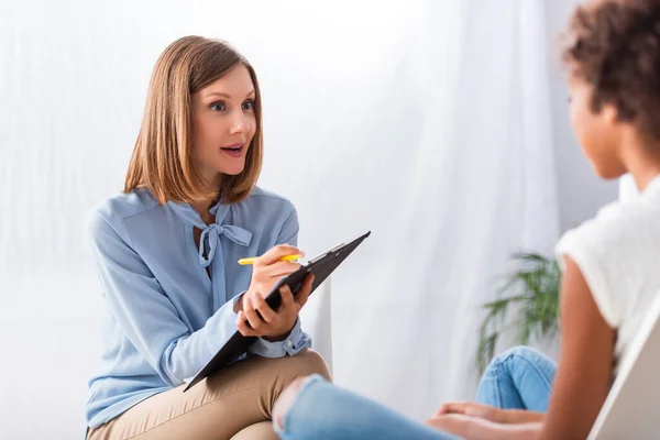
<path fill-rule="evenodd" d="M 351 241 L 348 244 L 339 244 L 331 250 L 320 254 L 316 258 L 311 260 L 306 265 L 301 266 L 298 271 L 293 274 L 283 277 L 273 287 L 271 294 L 266 297 L 266 302 L 271 308 L 277 310 L 282 305 L 282 297 L 279 296 L 279 288 L 287 284 L 292 289 L 294 296 L 300 289 L 302 280 L 308 274 L 314 274 L 314 285 L 311 292 L 314 293 L 332 272 L 360 245 L 362 242 L 371 235 L 371 231 Z M 197 375 L 188 383 L 184 393 L 190 389 L 193 386 L 204 381 L 218 370 L 231 363 L 240 355 L 248 352 L 248 348 L 254 342 L 256 338 L 244 337 L 237 331 L 230 339 L 222 345 L 220 351 L 197 373 Z"/>

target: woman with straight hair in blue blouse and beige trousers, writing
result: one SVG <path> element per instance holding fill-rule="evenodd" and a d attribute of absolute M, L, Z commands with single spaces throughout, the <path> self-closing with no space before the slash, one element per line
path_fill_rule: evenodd
<path fill-rule="evenodd" d="M 276 311 L 263 299 L 301 252 L 294 206 L 255 187 L 261 121 L 254 69 L 227 43 L 187 36 L 158 58 L 124 191 L 87 223 L 106 305 L 88 439 L 276 439 L 284 387 L 329 377 L 297 318 L 312 278 Z M 237 329 L 257 338 L 248 359 L 184 394 Z"/>

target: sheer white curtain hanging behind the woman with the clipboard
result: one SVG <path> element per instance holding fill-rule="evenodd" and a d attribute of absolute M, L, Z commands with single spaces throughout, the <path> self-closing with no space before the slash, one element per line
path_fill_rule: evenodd
<path fill-rule="evenodd" d="M 81 432 L 101 307 L 81 217 L 121 188 L 185 34 L 254 64 L 261 185 L 305 251 L 373 231 L 333 277 L 337 383 L 419 420 L 472 396 L 480 305 L 558 235 L 541 1 L 0 0 L 0 439 Z"/>

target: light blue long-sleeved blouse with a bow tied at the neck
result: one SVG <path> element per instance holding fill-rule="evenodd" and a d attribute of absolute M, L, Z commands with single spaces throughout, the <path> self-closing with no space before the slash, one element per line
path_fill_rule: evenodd
<path fill-rule="evenodd" d="M 238 260 L 297 244 L 294 206 L 261 188 L 209 211 L 216 222 L 207 226 L 190 205 L 161 206 L 147 189 L 90 211 L 87 235 L 106 314 L 101 364 L 89 382 L 88 426 L 98 428 L 195 376 L 237 331 L 233 304 L 252 276 Z M 202 231 L 199 250 L 195 227 Z M 286 340 L 260 338 L 250 353 L 282 358 L 309 345 L 298 320 Z"/>

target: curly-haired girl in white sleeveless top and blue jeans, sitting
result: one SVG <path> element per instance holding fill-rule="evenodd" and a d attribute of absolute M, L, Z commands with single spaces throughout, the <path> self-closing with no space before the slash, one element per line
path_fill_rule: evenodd
<path fill-rule="evenodd" d="M 660 293 L 660 0 L 593 1 L 576 10 L 570 31 L 564 61 L 575 134 L 598 176 L 630 173 L 641 194 L 603 208 L 557 246 L 563 265 L 557 372 L 543 356 L 514 350 L 491 364 L 482 381 L 479 397 L 491 406 L 448 404 L 427 426 L 318 376 L 300 378 L 276 405 L 282 438 L 588 436 Z"/>

